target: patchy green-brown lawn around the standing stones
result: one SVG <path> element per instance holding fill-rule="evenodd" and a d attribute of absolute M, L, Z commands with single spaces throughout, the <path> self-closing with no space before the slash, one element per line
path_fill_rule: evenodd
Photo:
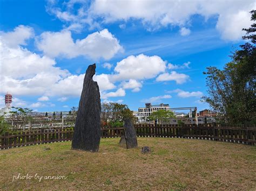
<path fill-rule="evenodd" d="M 118 142 L 119 138 L 101 139 L 97 153 L 71 150 L 71 142 L 2 150 L 0 188 L 256 189 L 255 146 L 138 138 L 139 147 L 127 150 Z M 140 153 L 142 146 L 150 146 L 152 153 Z M 12 181 L 19 173 L 32 178 Z M 39 182 L 35 174 L 67 178 Z"/>

